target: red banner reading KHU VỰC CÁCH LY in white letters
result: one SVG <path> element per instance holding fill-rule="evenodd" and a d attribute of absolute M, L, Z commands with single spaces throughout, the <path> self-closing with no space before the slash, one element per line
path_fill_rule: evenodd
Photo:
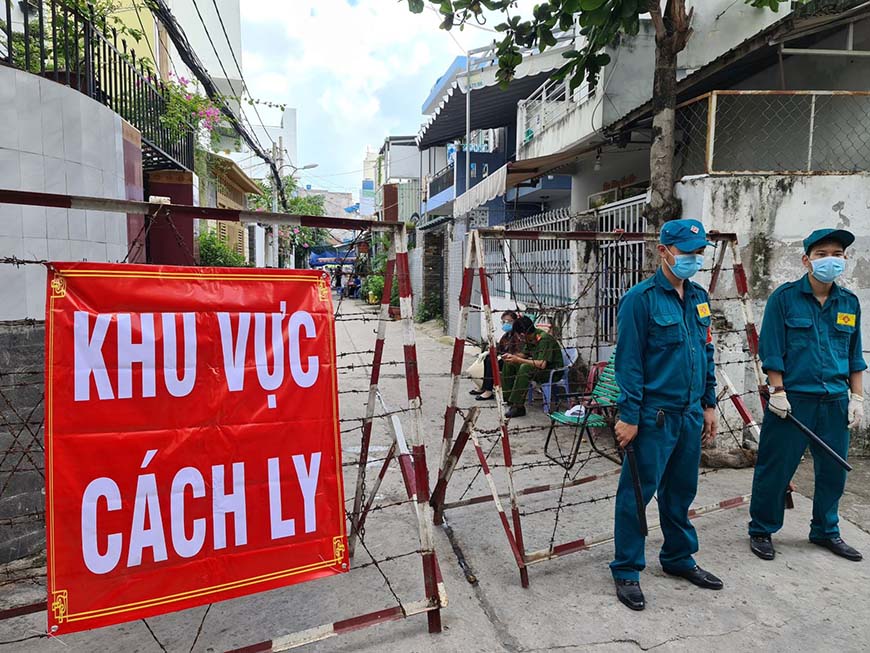
<path fill-rule="evenodd" d="M 50 631 L 346 571 L 328 277 L 50 267 Z"/>

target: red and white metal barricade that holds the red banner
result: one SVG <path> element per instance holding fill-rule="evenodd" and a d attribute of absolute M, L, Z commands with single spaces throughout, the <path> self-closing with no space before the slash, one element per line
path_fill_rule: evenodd
<path fill-rule="evenodd" d="M 58 195 L 50 193 L 22 192 L 0 189 L 0 204 L 18 204 L 26 206 L 59 207 L 72 210 L 105 211 L 113 213 L 137 213 L 147 216 L 161 216 L 172 219 L 208 218 L 229 222 L 256 222 L 273 224 L 292 224 L 321 228 L 341 228 L 357 231 L 370 230 L 386 233 L 390 239 L 390 256 L 385 274 L 384 289 L 381 296 L 378 315 L 377 340 L 372 360 L 371 379 L 363 420 L 360 455 L 357 465 L 356 492 L 353 499 L 353 511 L 348 515 L 350 534 L 348 546 L 351 555 L 361 533 L 364 532 L 366 518 L 374 507 L 375 496 L 381 481 L 393 461 L 398 461 L 403 484 L 408 501 L 413 507 L 413 516 L 418 524 L 419 553 L 422 563 L 424 596 L 419 600 L 406 602 L 394 607 L 379 609 L 365 614 L 356 615 L 329 624 L 308 628 L 296 633 L 262 641 L 238 649 L 239 651 L 284 651 L 343 633 L 359 630 L 367 626 L 396 621 L 419 614 L 426 614 L 430 633 L 441 631 L 441 608 L 447 605 L 447 594 L 438 560 L 435 553 L 432 519 L 430 515 L 429 479 L 426 466 L 426 450 L 422 430 L 422 402 L 417 364 L 417 351 L 413 310 L 411 303 L 411 282 L 408 267 L 407 231 L 402 223 L 385 223 L 379 221 L 350 220 L 346 218 L 331 218 L 322 216 L 298 216 L 281 213 L 235 211 L 186 205 L 138 202 L 130 200 L 113 200 L 96 197 Z M 84 213 L 81 219 L 84 220 Z M 72 218 L 71 218 L 72 219 Z M 2 252 L 0 252 L 2 255 Z M 407 380 L 407 412 L 410 420 L 408 434 L 402 428 L 402 423 L 395 413 L 390 413 L 383 402 L 379 391 L 379 378 L 383 363 L 386 325 L 391 322 L 389 304 L 392 285 L 398 283 L 400 297 L 400 319 L 403 333 L 404 371 Z M 384 406 L 382 414 L 375 412 L 377 403 Z M 371 447 L 372 425 L 375 419 L 388 420 L 388 430 L 392 441 L 387 455 L 375 479 L 374 487 L 366 495 L 364 492 L 367 475 L 367 463 Z M 351 567 L 353 569 L 353 566 Z M 23 617 L 28 614 L 44 611 L 45 602 L 0 611 L 0 620 Z"/>

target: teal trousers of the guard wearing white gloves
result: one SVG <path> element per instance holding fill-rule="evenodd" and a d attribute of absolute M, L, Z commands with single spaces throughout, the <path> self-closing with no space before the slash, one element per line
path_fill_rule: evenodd
<path fill-rule="evenodd" d="M 849 453 L 849 398 L 789 394 L 792 414 L 843 458 Z M 838 506 L 846 487 L 846 470 L 818 445 L 812 444 L 791 422 L 769 410 L 761 424 L 758 462 L 749 505 L 750 535 L 771 535 L 782 528 L 785 493 L 807 445 L 813 454 L 815 492 L 810 539 L 839 537 Z"/>

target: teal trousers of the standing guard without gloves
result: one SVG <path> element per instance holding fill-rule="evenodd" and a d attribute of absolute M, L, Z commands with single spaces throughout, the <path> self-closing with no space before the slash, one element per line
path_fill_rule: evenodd
<path fill-rule="evenodd" d="M 689 520 L 689 508 L 698 490 L 704 413 L 700 406 L 683 413 L 666 412 L 664 424 L 657 426 L 657 412 L 653 407 L 641 407 L 633 442 L 644 507 L 658 492 L 659 519 L 665 538 L 659 561 L 671 571 L 689 570 L 695 566 L 692 556 L 698 551 L 698 534 Z M 616 491 L 613 535 L 615 555 L 610 563 L 613 577 L 638 580 L 646 567 L 646 541 L 637 519 L 628 460 L 623 461 Z"/>

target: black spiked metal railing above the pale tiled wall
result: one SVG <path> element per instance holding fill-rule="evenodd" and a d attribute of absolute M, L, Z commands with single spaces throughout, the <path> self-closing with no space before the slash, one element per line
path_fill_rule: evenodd
<path fill-rule="evenodd" d="M 165 123 L 166 88 L 93 7 L 85 13 L 62 0 L 3 0 L 0 11 L 0 64 L 65 84 L 112 109 L 141 132 L 146 170 L 193 169 L 193 128 Z"/>

